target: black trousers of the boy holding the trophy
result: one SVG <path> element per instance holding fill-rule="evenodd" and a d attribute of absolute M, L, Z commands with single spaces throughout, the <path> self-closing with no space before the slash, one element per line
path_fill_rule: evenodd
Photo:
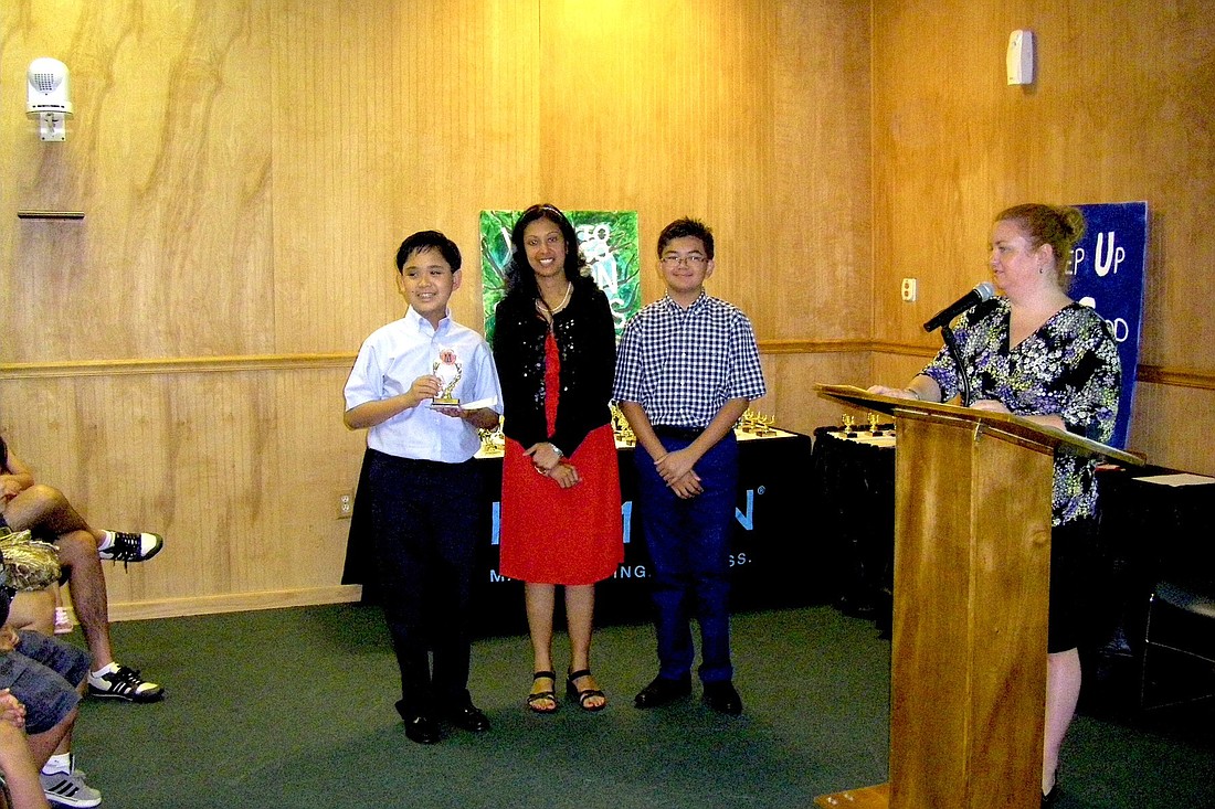
<path fill-rule="evenodd" d="M 401 667 L 400 709 L 407 718 L 434 715 L 468 698 L 480 476 L 471 459 L 448 464 L 368 449 L 368 462 L 382 602 Z"/>

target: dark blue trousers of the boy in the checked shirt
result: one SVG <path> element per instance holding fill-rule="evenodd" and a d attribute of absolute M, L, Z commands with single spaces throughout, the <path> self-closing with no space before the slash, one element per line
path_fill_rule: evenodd
<path fill-rule="evenodd" d="M 660 436 L 667 452 L 691 441 Z M 739 487 L 739 445 L 728 434 L 696 463 L 703 493 L 682 499 L 654 469 L 638 445 L 642 533 L 654 564 L 651 578 L 659 677 L 680 679 L 691 673 L 695 656 L 689 622 L 700 624 L 700 679 L 733 679 L 730 663 L 730 536 Z"/>

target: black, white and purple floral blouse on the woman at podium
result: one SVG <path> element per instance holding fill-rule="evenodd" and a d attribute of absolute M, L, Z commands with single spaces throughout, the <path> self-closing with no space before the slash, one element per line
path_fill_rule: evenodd
<path fill-rule="evenodd" d="M 1011 312 L 1007 298 L 993 298 L 953 327 L 971 374 L 972 396 L 998 400 L 1016 415 L 1059 415 L 1068 431 L 1109 441 L 1123 372 L 1106 322 L 1092 309 L 1073 302 L 1010 349 Z M 944 346 L 921 373 L 940 386 L 946 402 L 961 392 L 957 366 Z M 1096 468 L 1091 456 L 1056 449 L 1052 525 L 1096 514 Z"/>

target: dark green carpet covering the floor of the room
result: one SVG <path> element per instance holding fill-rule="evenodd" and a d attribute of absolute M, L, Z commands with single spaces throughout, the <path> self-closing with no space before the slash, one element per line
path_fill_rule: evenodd
<path fill-rule="evenodd" d="M 477 640 L 470 689 L 493 729 L 430 747 L 405 737 L 392 707 L 399 675 L 377 607 L 113 630 L 122 662 L 168 697 L 85 701 L 77 763 L 108 809 L 812 809 L 815 796 L 886 780 L 889 641 L 827 606 L 735 616 L 736 719 L 701 706 L 699 690 L 669 708 L 632 707 L 655 673 L 649 626 L 597 632 L 610 700 L 597 714 L 564 698 L 555 715 L 527 713 L 527 639 Z M 80 643 L 79 630 L 68 638 Z M 564 635 L 555 655 L 563 666 Z M 1213 724 L 1079 717 L 1058 809 L 1215 807 Z"/>

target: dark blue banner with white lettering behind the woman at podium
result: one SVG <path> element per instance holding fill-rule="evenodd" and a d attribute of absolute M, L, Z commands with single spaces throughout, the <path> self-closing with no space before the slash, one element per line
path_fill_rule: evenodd
<path fill-rule="evenodd" d="M 1140 330 L 1143 323 L 1143 277 L 1147 265 L 1147 203 L 1076 205 L 1086 224 L 1072 260 L 1070 296 L 1094 307 L 1118 341 L 1123 392 L 1118 424 L 1109 443 L 1125 448 L 1135 401 Z"/>

